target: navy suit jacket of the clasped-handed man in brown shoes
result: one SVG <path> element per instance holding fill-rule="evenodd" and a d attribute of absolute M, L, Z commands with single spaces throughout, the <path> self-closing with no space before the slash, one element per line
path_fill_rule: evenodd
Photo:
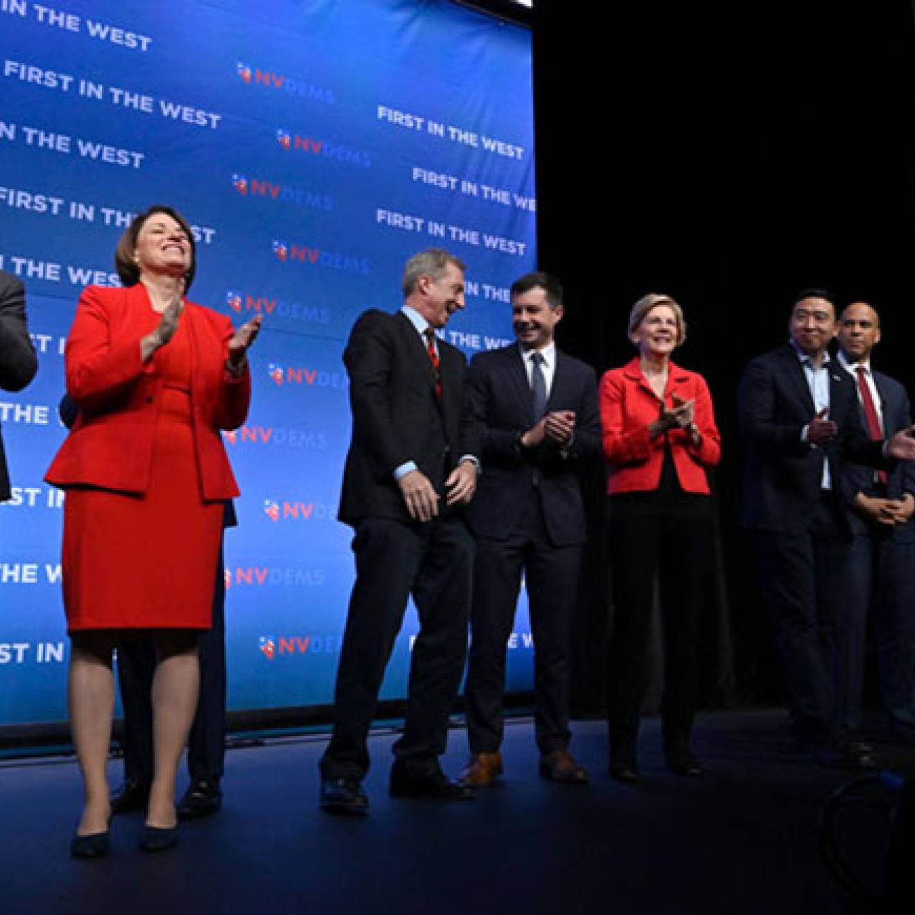
<path fill-rule="evenodd" d="M 585 511 L 577 470 L 601 456 L 597 378 L 584 362 L 556 350 L 547 412 L 574 410 L 571 447 L 544 442 L 520 447 L 518 438 L 533 424 L 533 393 L 517 345 L 480 352 L 468 369 L 464 414 L 479 428 L 482 472 L 468 506 L 468 522 L 479 537 L 505 540 L 527 511 L 536 479 L 546 530 L 556 546 L 585 541 Z"/>

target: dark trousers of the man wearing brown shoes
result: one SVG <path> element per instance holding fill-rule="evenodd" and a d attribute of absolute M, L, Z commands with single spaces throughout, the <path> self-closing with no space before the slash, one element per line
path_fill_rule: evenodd
<path fill-rule="evenodd" d="M 532 490 L 527 511 L 505 540 L 478 538 L 465 688 L 471 753 L 502 742 L 505 652 L 524 575 L 534 651 L 534 737 L 542 755 L 568 747 L 572 621 L 581 546 L 554 546 Z"/>

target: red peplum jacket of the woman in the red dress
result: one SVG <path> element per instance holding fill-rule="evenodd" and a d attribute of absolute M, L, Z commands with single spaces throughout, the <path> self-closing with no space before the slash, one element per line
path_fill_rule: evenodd
<path fill-rule="evenodd" d="M 48 483 L 145 492 L 162 387 L 154 362 L 140 358 L 148 308 L 142 283 L 88 286 L 80 296 L 64 355 L 67 391 L 80 414 L 48 468 Z M 231 499 L 238 484 L 219 430 L 244 422 L 251 375 L 246 369 L 234 378 L 225 369 L 229 318 L 188 302 L 181 320 L 190 332 L 190 401 L 203 498 Z"/>

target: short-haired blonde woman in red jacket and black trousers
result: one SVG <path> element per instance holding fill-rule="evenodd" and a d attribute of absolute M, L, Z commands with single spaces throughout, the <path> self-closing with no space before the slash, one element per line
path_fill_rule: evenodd
<path fill-rule="evenodd" d="M 609 478 L 610 775 L 636 782 L 655 578 L 664 630 L 662 729 L 667 766 L 703 770 L 690 746 L 700 613 L 711 571 L 712 511 L 706 468 L 721 455 L 708 386 L 671 361 L 686 325 L 670 296 L 643 296 L 630 314 L 639 355 L 600 381 Z"/>

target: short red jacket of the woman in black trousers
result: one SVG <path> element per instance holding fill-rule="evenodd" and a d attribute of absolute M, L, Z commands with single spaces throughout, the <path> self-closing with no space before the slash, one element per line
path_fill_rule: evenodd
<path fill-rule="evenodd" d="M 712 397 L 702 375 L 669 364 L 664 403 L 673 407 L 673 394 L 695 400 L 695 425 L 702 435 L 699 447 L 693 446 L 685 429 L 672 429 L 673 466 L 686 492 L 707 494 L 706 467 L 715 467 L 721 458 L 721 436 L 715 425 Z M 619 369 L 611 369 L 600 380 L 600 420 L 604 429 L 604 454 L 609 477 L 607 491 L 636 492 L 657 489 L 661 481 L 664 437 L 653 441 L 648 426 L 661 411 L 661 401 L 642 374 L 638 357 Z"/>

